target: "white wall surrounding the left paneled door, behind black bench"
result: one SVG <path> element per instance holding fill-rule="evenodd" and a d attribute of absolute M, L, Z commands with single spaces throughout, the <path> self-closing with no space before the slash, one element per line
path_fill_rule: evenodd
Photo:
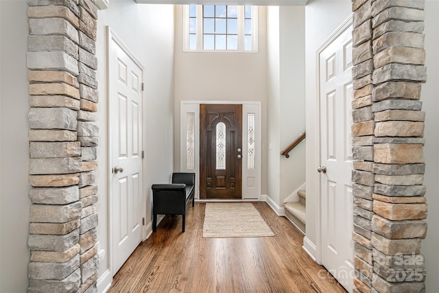
<path fill-rule="evenodd" d="M 99 11 L 97 58 L 99 62 L 99 147 L 98 188 L 99 249 L 106 250 L 106 259 L 99 264 L 99 278 L 108 272 L 108 176 L 107 176 L 107 65 L 106 26 L 121 38 L 145 67 L 145 187 L 147 196 L 146 223 L 152 220 L 150 187 L 167 183 L 173 169 L 174 130 L 174 5 L 137 4 L 132 0 L 111 0 L 107 10 Z M 100 279 L 99 288 L 106 279 Z M 104 282 L 104 283 L 102 283 Z"/>

